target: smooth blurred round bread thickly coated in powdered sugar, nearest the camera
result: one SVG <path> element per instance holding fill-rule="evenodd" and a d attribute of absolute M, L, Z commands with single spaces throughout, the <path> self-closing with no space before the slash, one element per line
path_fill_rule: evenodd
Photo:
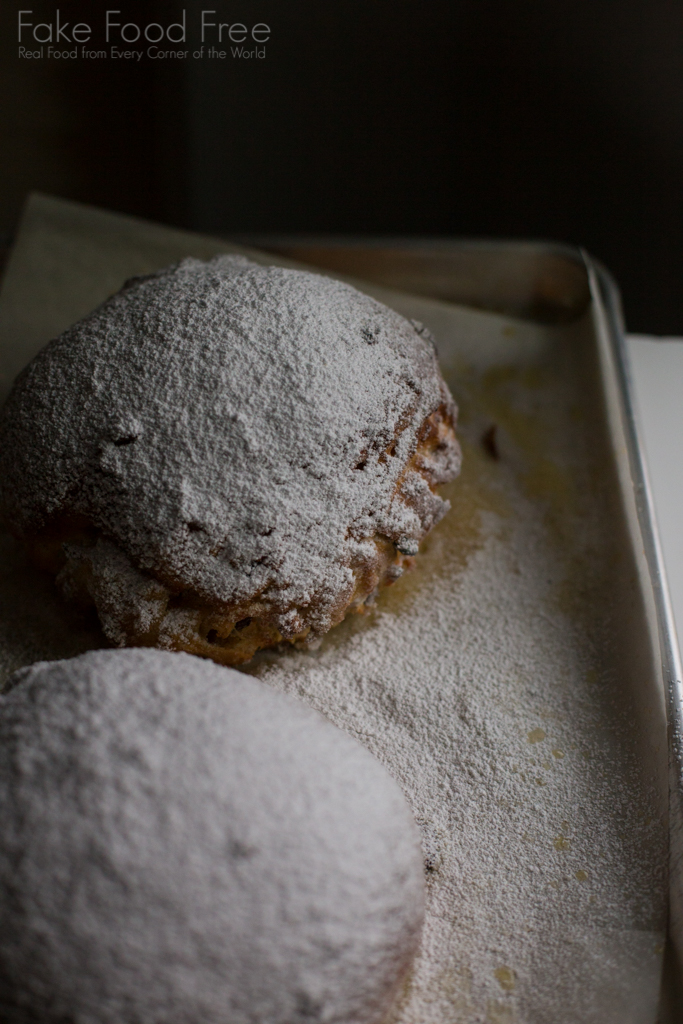
<path fill-rule="evenodd" d="M 398 785 L 293 697 L 93 651 L 0 697 L 6 1024 L 380 1024 L 420 939 Z"/>

